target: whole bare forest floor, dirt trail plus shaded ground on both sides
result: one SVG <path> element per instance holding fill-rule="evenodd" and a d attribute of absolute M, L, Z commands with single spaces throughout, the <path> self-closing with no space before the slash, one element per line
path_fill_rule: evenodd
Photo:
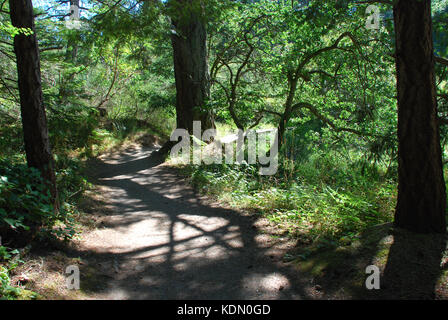
<path fill-rule="evenodd" d="M 42 299 L 448 297 L 445 239 L 386 224 L 342 247 L 301 247 L 266 218 L 197 194 L 156 150 L 91 160 L 80 237 L 33 250 L 16 280 Z M 381 290 L 365 288 L 372 264 Z M 80 290 L 66 288 L 68 265 L 80 268 Z"/>

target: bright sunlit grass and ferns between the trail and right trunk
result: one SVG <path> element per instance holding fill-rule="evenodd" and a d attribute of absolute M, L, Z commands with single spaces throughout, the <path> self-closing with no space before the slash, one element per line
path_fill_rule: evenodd
<path fill-rule="evenodd" d="M 200 191 L 255 210 L 304 242 L 350 239 L 391 221 L 395 184 L 381 171 L 375 165 L 363 170 L 329 150 L 300 161 L 283 158 L 273 177 L 258 176 L 253 165 L 184 168 Z"/>

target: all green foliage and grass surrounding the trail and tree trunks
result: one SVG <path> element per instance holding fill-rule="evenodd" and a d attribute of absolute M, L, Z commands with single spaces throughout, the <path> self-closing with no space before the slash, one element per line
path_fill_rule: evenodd
<path fill-rule="evenodd" d="M 201 165 L 185 169 L 192 183 L 308 239 L 350 238 L 372 224 L 390 221 L 396 192 L 391 177 L 397 168 L 394 31 L 392 19 L 384 19 L 375 33 L 365 29 L 368 4 L 85 1 L 90 10 L 81 15 L 83 28 L 69 30 L 54 18 L 67 13 L 63 3 L 41 3 L 36 35 L 61 210 L 53 212 L 38 172 L 24 165 L 10 44 L 14 34 L 29 30 L 12 28 L 4 3 L 0 230 L 40 225 L 43 236 L 73 237 L 76 200 L 89 187 L 81 159 L 142 132 L 170 135 L 176 122 L 170 37 L 177 32 L 170 17 L 182 24 L 191 15 L 207 24 L 212 96 L 206 107 L 216 119 L 234 124 L 232 102 L 245 128 L 261 115 L 260 126 L 287 128 L 274 177 L 259 176 L 254 165 Z M 448 2 L 432 3 L 436 55 L 444 57 Z M 378 5 L 391 18 L 390 6 Z M 350 37 L 335 47 L 344 34 Z M 437 65 L 436 72 L 439 111 L 444 115 L 446 66 Z M 299 102 L 313 108 L 287 110 L 288 103 Z M 441 137 L 446 149 L 446 126 L 441 126 Z M 1 248 L 0 257 L 10 255 Z"/>

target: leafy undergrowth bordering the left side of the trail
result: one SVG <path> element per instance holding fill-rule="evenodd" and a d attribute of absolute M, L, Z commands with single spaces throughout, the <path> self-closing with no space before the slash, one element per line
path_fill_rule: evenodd
<path fill-rule="evenodd" d="M 86 112 L 50 116 L 60 210 L 55 211 L 40 172 L 26 164 L 22 129 L 18 121 L 0 129 L 0 299 L 33 299 L 37 295 L 11 283 L 14 269 L 23 263 L 20 248 L 39 243 L 68 242 L 78 235 L 78 202 L 91 187 L 86 160 L 147 137 L 166 137 L 170 122 L 151 124 L 132 117 L 104 118 Z M 149 139 L 151 140 L 151 139 Z M 152 140 L 151 140 L 152 141 Z M 25 297 L 26 296 L 26 297 Z"/>

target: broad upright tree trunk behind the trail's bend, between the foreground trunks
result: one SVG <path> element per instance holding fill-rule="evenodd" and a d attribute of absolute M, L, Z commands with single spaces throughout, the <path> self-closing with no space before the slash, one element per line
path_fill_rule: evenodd
<path fill-rule="evenodd" d="M 185 6 L 197 0 L 175 0 L 172 17 L 175 28 L 171 40 L 176 79 L 177 127 L 193 133 L 193 121 L 201 121 L 202 130 L 214 128 L 210 111 L 204 109 L 210 98 L 210 75 L 207 59 L 207 32 L 203 17 Z M 179 12 L 182 11 L 183 12 Z M 189 11 L 189 12 L 188 12 Z"/>

